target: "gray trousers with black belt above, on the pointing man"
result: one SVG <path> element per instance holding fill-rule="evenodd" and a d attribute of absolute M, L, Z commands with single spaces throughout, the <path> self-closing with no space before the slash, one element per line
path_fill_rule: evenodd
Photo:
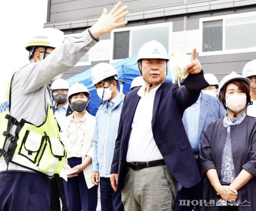
<path fill-rule="evenodd" d="M 122 202 L 125 211 L 171 211 L 178 182 L 166 165 L 133 170 L 124 180 Z"/>

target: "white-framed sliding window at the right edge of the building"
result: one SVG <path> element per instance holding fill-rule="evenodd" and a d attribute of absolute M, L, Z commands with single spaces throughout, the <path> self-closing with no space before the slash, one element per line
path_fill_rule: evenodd
<path fill-rule="evenodd" d="M 201 18 L 200 56 L 256 51 L 256 12 Z"/>

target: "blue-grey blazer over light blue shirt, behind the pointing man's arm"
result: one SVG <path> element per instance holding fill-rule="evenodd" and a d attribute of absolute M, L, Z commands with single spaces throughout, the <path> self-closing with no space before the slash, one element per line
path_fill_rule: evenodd
<path fill-rule="evenodd" d="M 217 97 L 205 94 L 202 92 L 201 103 L 200 103 L 200 115 L 198 123 L 198 145 L 201 148 L 203 131 L 213 120 L 224 117 L 227 114 L 224 106 L 218 101 Z M 182 121 L 186 131 L 188 131 L 188 125 L 186 120 L 186 112 L 183 115 Z"/>

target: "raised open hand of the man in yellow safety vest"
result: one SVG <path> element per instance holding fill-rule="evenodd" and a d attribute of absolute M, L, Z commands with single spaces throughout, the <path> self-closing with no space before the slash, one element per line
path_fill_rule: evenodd
<path fill-rule="evenodd" d="M 121 5 L 121 1 L 118 2 L 109 13 L 106 8 L 103 9 L 99 20 L 90 27 L 90 32 L 95 38 L 127 24 L 127 21 L 119 22 L 128 14 L 128 11 L 126 11 L 127 6 L 121 7 Z"/>

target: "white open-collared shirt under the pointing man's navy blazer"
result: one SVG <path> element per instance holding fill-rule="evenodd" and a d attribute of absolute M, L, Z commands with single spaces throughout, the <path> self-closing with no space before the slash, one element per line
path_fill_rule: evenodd
<path fill-rule="evenodd" d="M 151 126 L 154 98 L 159 87 L 160 85 L 151 89 L 146 96 L 144 96 L 145 85 L 138 91 L 141 98 L 131 125 L 127 162 L 148 162 L 163 159 L 154 140 Z"/>

